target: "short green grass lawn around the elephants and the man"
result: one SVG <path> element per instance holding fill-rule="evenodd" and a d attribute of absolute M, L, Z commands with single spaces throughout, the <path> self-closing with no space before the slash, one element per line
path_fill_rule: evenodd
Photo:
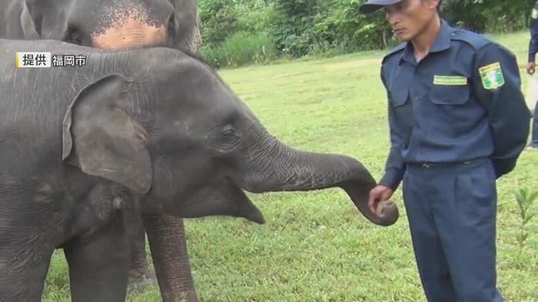
<path fill-rule="evenodd" d="M 496 35 L 526 63 L 528 33 Z M 381 177 L 388 152 L 386 93 L 379 79 L 385 52 L 349 54 L 272 66 L 221 70 L 266 128 L 303 150 L 348 154 Z M 521 69 L 523 89 L 527 75 Z M 538 152 L 524 152 L 497 182 L 498 286 L 506 301 L 538 301 L 538 223 L 519 253 L 513 192 L 538 189 Z M 412 254 L 401 190 L 395 225 L 372 225 L 339 189 L 249 194 L 265 225 L 243 219 L 186 220 L 201 301 L 425 301 Z M 537 212 L 537 209 L 531 209 Z M 52 260 L 44 301 L 69 301 L 67 266 Z M 128 301 L 161 301 L 157 288 Z"/>

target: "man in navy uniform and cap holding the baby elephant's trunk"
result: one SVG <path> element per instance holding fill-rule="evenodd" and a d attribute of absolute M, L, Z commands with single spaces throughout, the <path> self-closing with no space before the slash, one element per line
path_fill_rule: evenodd
<path fill-rule="evenodd" d="M 401 45 L 383 58 L 390 154 L 370 209 L 402 183 L 428 301 L 503 301 L 497 290 L 496 179 L 529 134 L 514 54 L 449 26 L 439 0 L 369 0 Z"/>

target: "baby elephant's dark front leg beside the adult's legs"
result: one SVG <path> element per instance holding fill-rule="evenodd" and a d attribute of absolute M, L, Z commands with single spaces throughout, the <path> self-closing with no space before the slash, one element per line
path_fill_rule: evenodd
<path fill-rule="evenodd" d="M 126 301 L 129 242 L 123 213 L 88 237 L 63 248 L 69 265 L 71 301 Z"/>

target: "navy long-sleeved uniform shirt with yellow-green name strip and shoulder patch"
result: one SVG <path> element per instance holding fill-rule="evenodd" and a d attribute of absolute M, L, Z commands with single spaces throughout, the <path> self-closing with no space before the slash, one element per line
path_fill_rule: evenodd
<path fill-rule="evenodd" d="M 489 157 L 497 177 L 524 149 L 530 112 L 514 54 L 485 37 L 441 29 L 419 63 L 412 43 L 383 58 L 390 154 L 379 181 L 396 190 L 406 163 L 455 163 Z"/>

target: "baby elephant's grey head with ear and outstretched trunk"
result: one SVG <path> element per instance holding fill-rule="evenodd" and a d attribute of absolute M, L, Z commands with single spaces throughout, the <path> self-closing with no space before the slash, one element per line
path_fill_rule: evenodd
<path fill-rule="evenodd" d="M 370 212 L 368 192 L 376 181 L 356 159 L 281 143 L 198 59 L 166 48 L 135 53 L 103 55 L 141 61 L 131 68 L 145 72 L 99 79 L 81 90 L 66 113 L 63 158 L 83 172 L 159 201 L 150 206 L 177 217 L 237 213 L 237 203 L 200 198 L 212 186 L 243 205 L 251 203 L 241 190 L 339 187 L 372 223 L 397 220 L 390 201 Z"/>

